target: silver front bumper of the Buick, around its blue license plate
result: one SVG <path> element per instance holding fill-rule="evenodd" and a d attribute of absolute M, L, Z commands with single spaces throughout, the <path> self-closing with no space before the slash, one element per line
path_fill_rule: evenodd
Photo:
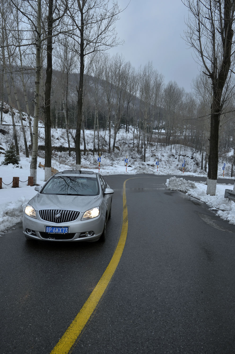
<path fill-rule="evenodd" d="M 61 224 L 41 220 L 38 212 L 36 212 L 36 215 L 37 219 L 31 218 L 25 213 L 23 215 L 23 233 L 27 239 L 60 242 L 95 241 L 100 238 L 105 224 L 105 217 L 101 213 L 93 219 L 81 221 L 78 218 L 73 222 Z M 68 234 L 48 234 L 45 232 L 48 226 L 68 227 Z M 32 233 L 29 233 L 29 230 Z M 86 232 L 92 232 L 92 235 L 85 236 Z"/>

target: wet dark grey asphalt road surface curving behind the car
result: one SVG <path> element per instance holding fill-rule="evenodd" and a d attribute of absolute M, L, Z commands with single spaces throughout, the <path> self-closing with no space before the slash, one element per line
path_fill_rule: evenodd
<path fill-rule="evenodd" d="M 1 354 L 49 354 L 65 333 L 116 248 L 128 178 L 124 251 L 72 353 L 235 353 L 235 225 L 167 176 L 121 175 L 104 244 L 27 242 L 21 224 L 0 238 Z"/>

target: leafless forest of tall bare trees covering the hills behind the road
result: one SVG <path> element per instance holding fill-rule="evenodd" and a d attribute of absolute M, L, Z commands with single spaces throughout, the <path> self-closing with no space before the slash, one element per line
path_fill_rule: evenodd
<path fill-rule="evenodd" d="M 76 168 L 80 169 L 86 130 L 94 131 L 93 154 L 97 151 L 99 155 L 103 149 L 100 130 L 107 131 L 107 152 L 112 154 L 119 129 L 125 127 L 129 132 L 132 127 L 133 149 L 143 154 L 144 162 L 149 143 L 156 149 L 164 144 L 174 150 L 177 144 L 182 149 L 190 147 L 192 155 L 200 152 L 201 169 L 208 172 L 208 182 L 212 181 L 207 194 L 215 193 L 218 158 L 225 151 L 235 151 L 235 5 L 234 1 L 184 3 L 189 8 L 185 41 L 201 63 L 191 92 L 175 81 L 165 82 L 150 61 L 135 68 L 122 54 L 108 53 L 110 47 L 122 43 L 115 32 L 122 11 L 118 2 L 1 0 L 0 127 L 2 112 L 9 105 L 19 154 L 16 108 L 24 136 L 23 153 L 32 156 L 30 175 L 35 181 L 38 122 L 42 121 L 45 181 L 51 173 L 51 128 L 66 131 L 69 156 L 74 147 Z M 25 119 L 30 142 L 24 133 Z M 232 165 L 234 159 L 233 154 Z"/>

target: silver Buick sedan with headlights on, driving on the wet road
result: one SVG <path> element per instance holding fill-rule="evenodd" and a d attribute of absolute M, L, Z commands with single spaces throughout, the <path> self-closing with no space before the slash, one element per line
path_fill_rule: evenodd
<path fill-rule="evenodd" d="M 35 190 L 23 215 L 26 239 L 105 241 L 114 191 L 100 173 L 58 172 Z"/>

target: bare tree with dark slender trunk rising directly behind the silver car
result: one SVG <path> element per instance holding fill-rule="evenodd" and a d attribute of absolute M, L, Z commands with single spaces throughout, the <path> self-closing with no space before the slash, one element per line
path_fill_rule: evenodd
<path fill-rule="evenodd" d="M 77 36 L 74 36 L 74 50 L 77 51 L 80 59 L 75 153 L 76 169 L 80 170 L 85 58 L 92 52 L 106 50 L 108 47 L 117 45 L 114 24 L 120 10 L 117 2 L 110 0 L 77 0 L 77 6 L 73 2 L 73 6 L 69 6 L 68 11 L 73 29 L 78 31 Z"/>

